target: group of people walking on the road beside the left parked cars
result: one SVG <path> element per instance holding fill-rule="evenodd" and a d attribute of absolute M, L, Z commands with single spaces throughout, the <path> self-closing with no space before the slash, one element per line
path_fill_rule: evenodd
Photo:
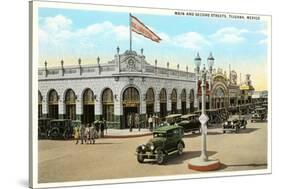
<path fill-rule="evenodd" d="M 81 124 L 74 128 L 74 138 L 76 144 L 81 141 L 81 144 L 94 144 L 96 138 L 103 138 L 104 131 L 107 132 L 105 120 L 98 120 L 93 123 Z"/>

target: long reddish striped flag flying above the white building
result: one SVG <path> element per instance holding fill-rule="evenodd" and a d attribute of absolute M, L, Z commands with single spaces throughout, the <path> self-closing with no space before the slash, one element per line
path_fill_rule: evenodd
<path fill-rule="evenodd" d="M 151 31 L 146 25 L 144 25 L 138 18 L 130 14 L 131 31 L 140 34 L 152 41 L 159 43 L 161 38 Z"/>

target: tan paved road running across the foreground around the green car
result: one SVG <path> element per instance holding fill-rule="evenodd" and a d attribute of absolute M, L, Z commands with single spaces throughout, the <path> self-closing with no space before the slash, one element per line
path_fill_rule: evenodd
<path fill-rule="evenodd" d="M 201 137 L 187 134 L 182 156 L 172 155 L 165 165 L 139 164 L 134 155 L 139 144 L 151 136 L 98 139 L 94 145 L 74 141 L 39 141 L 39 182 L 100 180 L 126 177 L 198 173 L 187 168 L 188 160 L 200 156 Z M 250 123 L 239 134 L 208 131 L 208 154 L 224 164 L 219 171 L 267 168 L 267 123 Z"/>

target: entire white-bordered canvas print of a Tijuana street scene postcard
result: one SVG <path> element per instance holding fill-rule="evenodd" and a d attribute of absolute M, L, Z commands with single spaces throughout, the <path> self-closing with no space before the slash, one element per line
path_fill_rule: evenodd
<path fill-rule="evenodd" d="M 30 21 L 30 187 L 271 173 L 270 15 L 32 1 Z"/>

